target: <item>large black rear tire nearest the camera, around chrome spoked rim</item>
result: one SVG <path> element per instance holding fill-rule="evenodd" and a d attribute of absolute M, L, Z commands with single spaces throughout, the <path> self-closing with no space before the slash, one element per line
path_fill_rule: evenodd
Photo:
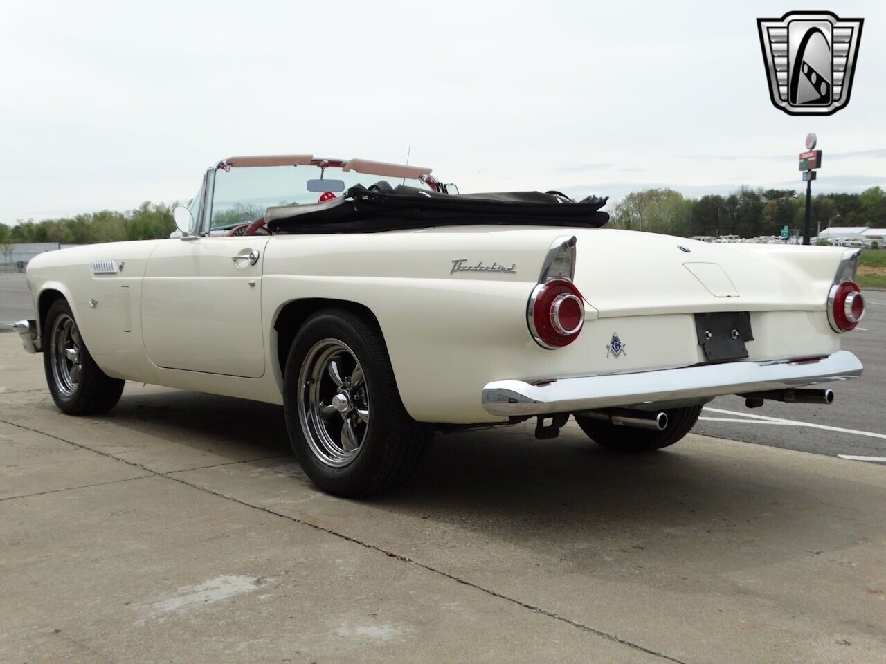
<path fill-rule="evenodd" d="M 337 350 L 337 344 L 346 350 Z M 323 350 L 327 347 L 331 350 Z M 324 352 L 333 353 L 328 364 Z M 343 367 L 346 360 L 353 362 L 344 372 L 331 372 L 333 360 Z M 362 375 L 354 380 L 357 366 Z M 343 385 L 337 384 L 341 375 L 332 380 L 333 373 L 348 374 Z M 358 385 L 362 388 L 355 387 Z M 339 398 L 339 406 L 354 411 L 320 415 L 322 408 L 332 407 L 332 397 L 342 390 L 348 396 L 346 404 L 345 399 Z M 367 415 L 365 422 L 354 414 L 361 404 Z M 385 339 L 375 321 L 343 309 L 315 313 L 299 329 L 284 369 L 284 413 L 292 450 L 307 476 L 321 489 L 348 498 L 391 490 L 406 482 L 433 435 L 431 425 L 416 422 L 406 412 Z M 355 452 L 345 447 L 347 421 L 354 422 L 350 444 L 361 436 Z M 338 452 L 342 457 L 355 456 L 339 459 L 334 456 Z M 332 463 L 341 465 L 336 467 Z"/>

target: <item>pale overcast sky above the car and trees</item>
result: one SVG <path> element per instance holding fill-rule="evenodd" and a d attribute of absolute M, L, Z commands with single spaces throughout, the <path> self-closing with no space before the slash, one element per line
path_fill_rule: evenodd
<path fill-rule="evenodd" d="M 769 101 L 756 19 L 784 3 L 4 3 L 0 221 L 190 197 L 238 154 L 432 166 L 462 192 L 622 197 L 886 187 L 886 4 L 865 19 L 851 102 Z"/>

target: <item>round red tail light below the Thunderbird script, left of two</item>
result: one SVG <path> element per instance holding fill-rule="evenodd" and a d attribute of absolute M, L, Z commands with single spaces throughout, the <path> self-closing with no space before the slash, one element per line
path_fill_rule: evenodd
<path fill-rule="evenodd" d="M 585 322 L 579 290 L 565 279 L 540 283 L 526 312 L 532 338 L 544 348 L 563 348 L 576 340 Z"/>

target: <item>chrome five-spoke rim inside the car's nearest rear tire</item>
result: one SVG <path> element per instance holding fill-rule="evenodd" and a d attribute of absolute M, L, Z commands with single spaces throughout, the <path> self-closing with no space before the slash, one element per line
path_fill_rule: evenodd
<path fill-rule="evenodd" d="M 317 459 L 337 468 L 352 463 L 369 429 L 369 394 L 354 351 L 338 339 L 314 344 L 299 372 L 298 404 Z"/>

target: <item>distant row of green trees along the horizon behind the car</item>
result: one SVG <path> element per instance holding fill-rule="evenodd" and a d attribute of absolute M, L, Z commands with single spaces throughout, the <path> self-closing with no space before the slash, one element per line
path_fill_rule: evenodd
<path fill-rule="evenodd" d="M 803 228 L 805 197 L 794 189 L 742 187 L 727 196 L 687 198 L 673 189 L 632 191 L 610 209 L 610 228 L 669 235 L 779 235 Z M 89 244 L 168 237 L 175 229 L 175 204 L 147 201 L 127 212 L 89 212 L 42 221 L 0 223 L 0 244 L 57 242 Z M 248 216 L 248 215 L 247 215 Z M 254 218 L 253 214 L 253 218 Z M 260 216 L 260 215 L 259 215 Z M 879 187 L 860 194 L 812 197 L 812 235 L 829 226 L 886 226 L 886 193 Z"/>

